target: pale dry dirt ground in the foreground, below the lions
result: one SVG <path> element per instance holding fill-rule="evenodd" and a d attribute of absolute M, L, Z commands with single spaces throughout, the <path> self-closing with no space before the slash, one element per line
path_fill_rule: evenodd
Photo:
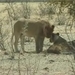
<path fill-rule="evenodd" d="M 44 51 L 37 54 L 35 44 L 26 42 L 23 55 L 15 53 L 15 59 L 0 52 L 0 75 L 75 75 L 75 61 L 73 55 L 47 54 L 50 43 L 44 41 Z"/>

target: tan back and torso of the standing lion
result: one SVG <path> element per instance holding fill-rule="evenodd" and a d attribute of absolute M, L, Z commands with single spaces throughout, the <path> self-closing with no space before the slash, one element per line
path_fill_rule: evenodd
<path fill-rule="evenodd" d="M 46 24 L 45 24 L 46 23 Z M 20 33 L 25 34 L 30 37 L 35 37 L 36 35 L 43 36 L 43 27 L 48 22 L 43 20 L 23 20 L 23 21 L 17 21 L 14 25 L 14 33 Z M 41 33 L 40 33 L 41 32 Z"/>

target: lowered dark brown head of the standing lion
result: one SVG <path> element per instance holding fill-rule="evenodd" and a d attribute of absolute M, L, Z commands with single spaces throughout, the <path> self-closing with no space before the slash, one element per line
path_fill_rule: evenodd
<path fill-rule="evenodd" d="M 54 31 L 54 28 L 55 28 L 54 25 L 52 25 L 52 26 L 50 26 L 50 25 L 45 26 L 43 28 L 45 37 L 50 38 L 52 33 L 53 33 L 53 31 Z"/>

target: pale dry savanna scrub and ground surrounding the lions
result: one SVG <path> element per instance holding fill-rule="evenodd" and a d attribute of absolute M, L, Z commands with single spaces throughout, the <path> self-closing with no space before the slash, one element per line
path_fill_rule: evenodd
<path fill-rule="evenodd" d="M 14 23 L 19 19 L 43 19 L 55 25 L 54 32 L 67 41 L 75 40 L 75 2 L 8 2 L 0 3 L 0 75 L 75 75 L 75 60 L 72 54 L 48 54 L 35 52 L 33 38 L 25 37 L 28 53 L 15 53 L 10 60 L 11 35 Z M 44 50 L 51 45 L 44 41 Z M 19 44 L 19 50 L 20 44 Z"/>

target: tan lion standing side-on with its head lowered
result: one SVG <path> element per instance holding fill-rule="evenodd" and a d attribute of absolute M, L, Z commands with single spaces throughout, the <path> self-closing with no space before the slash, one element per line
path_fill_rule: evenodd
<path fill-rule="evenodd" d="M 50 25 L 50 23 L 45 20 L 31 20 L 31 19 L 18 20 L 14 24 L 14 31 L 12 34 L 11 42 L 13 42 L 14 36 L 15 37 L 14 47 L 16 52 L 19 52 L 18 41 L 20 39 L 21 48 L 24 51 L 24 36 L 34 37 L 36 52 L 39 53 L 43 50 L 44 38 L 45 37 L 50 38 L 51 34 L 54 31 L 54 27 L 55 27 L 54 25 Z"/>

